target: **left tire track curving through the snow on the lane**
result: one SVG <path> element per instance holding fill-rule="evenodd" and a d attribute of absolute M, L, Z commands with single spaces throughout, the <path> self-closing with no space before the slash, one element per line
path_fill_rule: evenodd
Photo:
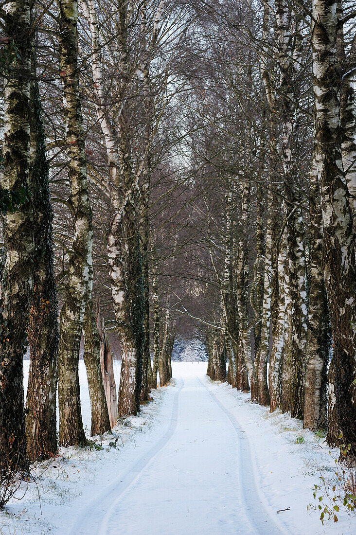
<path fill-rule="evenodd" d="M 69 535 L 80 535 L 80 533 L 87 535 L 88 533 L 94 533 L 93 528 L 95 524 L 98 524 L 98 519 L 99 525 L 95 533 L 97 535 L 106 535 L 108 523 L 113 510 L 115 510 L 115 507 L 120 501 L 124 492 L 137 481 L 141 473 L 154 461 L 156 456 L 160 454 L 162 449 L 175 433 L 178 423 L 178 398 L 183 386 L 184 381 L 181 379 L 180 386 L 173 397 L 170 423 L 163 437 L 161 437 L 161 439 L 158 440 L 158 442 L 156 442 L 156 444 L 150 448 L 148 452 L 141 455 L 139 460 L 133 465 L 132 468 L 126 470 L 124 475 L 118 476 L 110 485 L 104 488 L 102 493 L 95 496 L 93 500 L 90 500 L 88 505 L 79 512 L 77 519 L 69 531 Z M 112 495 L 113 500 L 108 508 L 108 499 Z M 102 513 L 104 513 L 104 516 L 100 519 Z M 90 522 L 90 519 L 92 519 L 92 522 Z M 88 529 L 85 527 L 88 525 L 91 528 L 90 531 L 88 531 Z"/>

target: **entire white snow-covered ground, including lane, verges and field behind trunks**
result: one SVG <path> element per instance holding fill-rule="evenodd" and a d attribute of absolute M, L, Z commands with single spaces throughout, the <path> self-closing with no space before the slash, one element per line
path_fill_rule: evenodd
<path fill-rule="evenodd" d="M 61 448 L 35 467 L 24 498 L 0 513 L 0 533 L 356 533 L 356 516 L 340 512 L 322 526 L 319 511 L 307 511 L 320 470 L 330 475 L 337 456 L 322 439 L 212 383 L 206 363 L 173 362 L 173 377 L 140 416 L 97 438 L 103 449 Z M 89 430 L 82 361 L 80 381 Z"/>

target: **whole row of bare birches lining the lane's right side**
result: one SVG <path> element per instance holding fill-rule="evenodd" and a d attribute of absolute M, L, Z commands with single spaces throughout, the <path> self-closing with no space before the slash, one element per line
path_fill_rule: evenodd
<path fill-rule="evenodd" d="M 201 24 L 219 65 L 207 61 L 204 96 L 223 93 L 199 110 L 209 129 L 194 141 L 195 161 L 224 179 L 225 233 L 207 215 L 219 293 L 208 375 L 224 380 L 228 361 L 232 386 L 354 455 L 354 5 L 235 13 Z"/>

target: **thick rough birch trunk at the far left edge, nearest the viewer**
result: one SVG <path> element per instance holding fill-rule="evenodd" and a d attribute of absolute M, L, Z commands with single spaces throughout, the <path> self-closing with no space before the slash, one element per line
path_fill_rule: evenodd
<path fill-rule="evenodd" d="M 4 222 L 5 266 L 0 302 L 0 470 L 26 465 L 22 357 L 32 295 L 33 236 L 28 198 L 31 21 L 29 2 L 5 2 L 6 69 L 1 188 L 23 190 L 24 202 Z M 17 50 L 20 60 L 17 57 Z"/>

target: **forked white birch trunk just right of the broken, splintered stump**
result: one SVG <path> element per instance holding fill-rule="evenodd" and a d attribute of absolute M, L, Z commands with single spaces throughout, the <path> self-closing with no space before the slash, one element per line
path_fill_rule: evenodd
<path fill-rule="evenodd" d="M 132 172 L 127 101 L 124 91 L 128 84 L 127 66 L 127 3 L 118 4 L 118 75 L 122 105 L 116 121 L 119 135 L 112 124 L 105 103 L 101 47 L 93 0 L 82 4 L 92 38 L 92 70 L 95 88 L 96 115 L 101 126 L 109 163 L 111 184 L 111 218 L 108 231 L 108 265 L 111 295 L 120 340 L 122 367 L 118 395 L 118 414 L 137 414 L 140 409 L 142 353 L 144 343 L 142 254 L 138 225 L 136 184 Z"/>

